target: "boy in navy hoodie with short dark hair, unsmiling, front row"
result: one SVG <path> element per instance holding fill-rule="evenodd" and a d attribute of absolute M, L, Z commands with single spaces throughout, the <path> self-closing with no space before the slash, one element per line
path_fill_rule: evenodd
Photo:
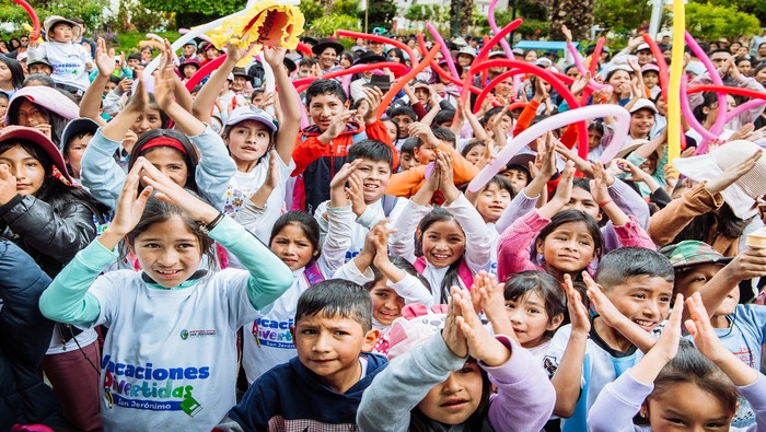
<path fill-rule="evenodd" d="M 372 301 L 360 285 L 329 279 L 298 300 L 290 328 L 298 357 L 256 380 L 216 431 L 357 430 L 362 392 L 387 364 L 369 351 Z"/>

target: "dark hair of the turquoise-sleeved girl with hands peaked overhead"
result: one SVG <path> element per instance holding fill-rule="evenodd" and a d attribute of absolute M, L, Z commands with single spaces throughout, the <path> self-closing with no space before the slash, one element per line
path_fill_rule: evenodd
<path fill-rule="evenodd" d="M 193 191 L 193 195 L 196 196 L 197 194 L 194 194 Z M 151 229 L 155 223 L 165 222 L 175 215 L 181 218 L 184 226 L 199 241 L 200 255 L 208 257 L 208 269 L 212 270 L 216 268 L 218 262 L 216 258 L 216 249 L 213 248 L 213 244 L 216 242 L 202 231 L 199 222 L 192 219 L 179 208 L 167 202 L 160 201 L 156 199 L 155 194 L 152 194 L 152 196 L 147 200 L 147 207 L 143 208 L 141 220 L 139 220 L 136 226 L 126 235 L 121 258 L 127 256 L 127 247 L 134 247 L 136 244 L 136 237 L 141 235 L 141 233 Z"/>

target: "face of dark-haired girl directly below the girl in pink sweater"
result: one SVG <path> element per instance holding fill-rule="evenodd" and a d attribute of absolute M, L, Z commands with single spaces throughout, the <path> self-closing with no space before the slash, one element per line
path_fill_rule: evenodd
<path fill-rule="evenodd" d="M 541 345 L 545 332 L 556 330 L 564 319 L 564 315 L 556 315 L 552 319 L 545 311 L 545 300 L 534 291 L 527 292 L 515 301 L 507 300 L 506 313 L 519 343 L 524 348 Z"/>

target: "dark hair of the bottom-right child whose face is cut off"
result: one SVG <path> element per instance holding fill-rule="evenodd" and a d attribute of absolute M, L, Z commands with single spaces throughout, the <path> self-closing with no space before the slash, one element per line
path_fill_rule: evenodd
<path fill-rule="evenodd" d="M 690 383 L 699 387 L 703 392 L 717 398 L 729 411 L 730 417 L 736 412 L 740 392 L 731 382 L 731 378 L 705 357 L 690 341 L 681 339 L 678 341 L 678 352 L 668 362 L 654 378 L 654 389 L 647 396 L 647 409 L 652 398 L 661 396 L 673 386 Z M 647 419 L 649 416 L 646 417 Z M 649 424 L 648 420 L 640 419 L 642 423 Z"/>

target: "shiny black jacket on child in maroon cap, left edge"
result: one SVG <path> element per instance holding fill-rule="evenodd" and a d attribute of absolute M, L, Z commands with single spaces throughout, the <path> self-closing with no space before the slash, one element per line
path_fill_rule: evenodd
<path fill-rule="evenodd" d="M 0 206 L 0 232 L 51 278 L 95 238 L 95 210 L 82 200 L 55 197 L 47 203 L 16 195 Z"/>

